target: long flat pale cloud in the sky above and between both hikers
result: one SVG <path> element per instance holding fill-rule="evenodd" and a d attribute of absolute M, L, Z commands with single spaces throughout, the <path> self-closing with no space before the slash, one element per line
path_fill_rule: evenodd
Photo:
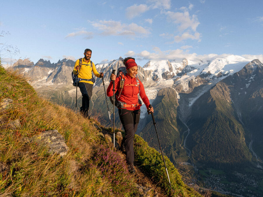
<path fill-rule="evenodd" d="M 141 27 L 135 23 L 131 23 L 129 25 L 122 24 L 120 21 L 114 20 L 100 20 L 98 22 L 91 22 L 91 25 L 102 31 L 102 35 L 109 36 L 109 35 L 131 35 L 131 36 L 138 36 L 141 35 L 148 35 L 150 31 Z"/>

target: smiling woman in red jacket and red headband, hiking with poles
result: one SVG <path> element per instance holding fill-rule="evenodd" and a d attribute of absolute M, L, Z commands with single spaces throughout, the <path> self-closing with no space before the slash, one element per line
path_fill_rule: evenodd
<path fill-rule="evenodd" d="M 150 112 L 153 112 L 153 107 L 149 108 L 150 102 L 145 94 L 143 84 L 136 77 L 136 74 L 138 73 L 138 66 L 135 59 L 127 57 L 124 59 L 123 63 L 126 66 L 127 74 L 125 75 L 124 85 L 120 97 L 117 98 L 120 121 L 125 131 L 121 149 L 124 150 L 125 148 L 129 172 L 134 173 L 133 138 L 138 127 L 141 113 L 139 95 Z M 117 90 L 120 90 L 121 77 L 116 78 L 116 75 L 111 74 L 110 79 L 111 82 L 107 88 L 107 96 L 113 96 L 113 81 L 115 81 L 115 93 Z"/>

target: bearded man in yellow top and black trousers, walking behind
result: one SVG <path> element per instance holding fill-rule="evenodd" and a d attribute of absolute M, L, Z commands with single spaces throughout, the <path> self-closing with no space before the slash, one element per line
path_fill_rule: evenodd
<path fill-rule="evenodd" d="M 73 74 L 77 74 L 77 70 L 79 70 L 78 78 L 81 78 L 79 81 L 79 89 L 82 94 L 82 107 L 80 108 L 80 112 L 83 114 L 85 118 L 90 118 L 88 115 L 89 111 L 89 100 L 92 96 L 92 88 L 94 79 L 92 77 L 92 72 L 96 77 L 103 77 L 103 73 L 100 74 L 96 70 L 95 64 L 90 60 L 92 51 L 90 49 L 85 49 L 84 58 L 82 58 L 82 65 L 79 69 L 79 60 L 75 62 Z M 83 80 L 82 80 L 83 79 Z"/>

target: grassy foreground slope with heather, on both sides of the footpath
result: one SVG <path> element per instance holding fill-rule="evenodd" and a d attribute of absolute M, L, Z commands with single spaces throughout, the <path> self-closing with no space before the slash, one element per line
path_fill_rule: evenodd
<path fill-rule="evenodd" d="M 0 112 L 1 196 L 138 196 L 135 180 L 119 151 L 107 147 L 90 120 L 39 98 L 21 77 L 0 67 L 0 100 L 13 99 Z M 19 119 L 21 128 L 7 123 Z M 99 124 L 99 123 L 98 123 Z M 34 136 L 57 129 L 69 147 L 60 158 Z M 167 195 L 200 196 L 186 186 L 166 158 L 173 191 L 169 189 L 161 155 L 135 137 L 136 163 Z"/>

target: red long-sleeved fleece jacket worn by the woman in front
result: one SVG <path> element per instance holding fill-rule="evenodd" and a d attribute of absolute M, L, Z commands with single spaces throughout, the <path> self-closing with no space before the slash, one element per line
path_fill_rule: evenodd
<path fill-rule="evenodd" d="M 117 90 L 120 89 L 120 79 L 121 77 L 117 77 L 115 80 L 115 93 Z M 140 82 L 140 97 L 143 100 L 144 104 L 146 104 L 146 107 L 148 109 L 150 102 L 148 97 L 145 94 L 145 90 L 143 87 L 143 84 Z M 136 104 L 138 103 L 138 93 L 139 93 L 139 87 L 138 86 L 125 86 L 129 84 L 135 84 L 137 85 L 137 81 L 135 78 L 131 78 L 129 75 L 125 76 L 125 81 L 124 81 L 124 87 L 122 89 L 122 93 L 119 97 L 118 100 L 121 102 L 125 102 L 126 104 Z M 110 85 L 107 88 L 107 96 L 113 96 L 113 82 L 110 82 Z M 140 107 L 126 107 L 125 109 L 128 110 L 137 110 L 140 109 Z"/>

